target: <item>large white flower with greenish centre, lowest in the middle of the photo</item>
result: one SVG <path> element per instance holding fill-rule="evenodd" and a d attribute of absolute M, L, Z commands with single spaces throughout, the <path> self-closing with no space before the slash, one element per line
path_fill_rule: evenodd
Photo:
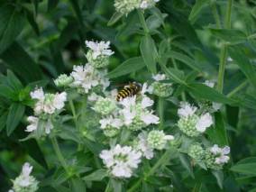
<path fill-rule="evenodd" d="M 138 168 L 142 153 L 132 147 L 117 144 L 109 151 L 101 151 L 100 158 L 110 172 L 117 178 L 131 178 L 133 169 Z"/>

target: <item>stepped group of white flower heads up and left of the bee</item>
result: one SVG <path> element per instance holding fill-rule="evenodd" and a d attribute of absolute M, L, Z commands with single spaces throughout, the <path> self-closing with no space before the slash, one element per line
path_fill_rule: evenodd
<path fill-rule="evenodd" d="M 54 80 L 57 87 L 75 87 L 80 94 L 88 94 L 97 90 L 105 91 L 110 82 L 105 78 L 107 73 L 105 68 L 109 64 L 109 57 L 114 54 L 109 50 L 110 42 L 107 41 L 86 41 L 87 51 L 86 57 L 88 63 L 83 66 L 74 66 L 70 76 L 60 75 Z"/>

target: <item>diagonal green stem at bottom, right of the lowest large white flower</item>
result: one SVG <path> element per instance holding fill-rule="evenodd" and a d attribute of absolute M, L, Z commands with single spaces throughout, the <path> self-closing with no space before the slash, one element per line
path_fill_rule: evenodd
<path fill-rule="evenodd" d="M 149 172 L 147 172 L 143 178 L 137 180 L 137 182 L 134 183 L 133 186 L 127 190 L 127 192 L 133 192 L 136 188 L 140 186 L 143 179 L 146 180 L 148 177 L 154 174 L 154 172 L 164 164 L 164 161 L 169 160 L 170 152 L 171 149 L 165 151 L 165 153 L 161 156 L 160 160 L 156 162 L 156 164 L 149 170 Z"/>

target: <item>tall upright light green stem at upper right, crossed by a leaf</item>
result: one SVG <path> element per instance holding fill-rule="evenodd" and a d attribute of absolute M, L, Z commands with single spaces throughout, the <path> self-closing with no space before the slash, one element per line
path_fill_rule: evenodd
<path fill-rule="evenodd" d="M 225 21 L 224 21 L 224 27 L 226 29 L 231 28 L 232 6 L 233 6 L 233 0 L 228 0 L 227 7 L 226 7 Z M 219 65 L 219 73 L 218 73 L 218 84 L 217 84 L 217 90 L 220 93 L 223 93 L 224 69 L 225 69 L 225 65 L 226 65 L 226 59 L 227 59 L 227 45 L 223 44 L 222 48 L 221 48 L 220 65 Z"/>

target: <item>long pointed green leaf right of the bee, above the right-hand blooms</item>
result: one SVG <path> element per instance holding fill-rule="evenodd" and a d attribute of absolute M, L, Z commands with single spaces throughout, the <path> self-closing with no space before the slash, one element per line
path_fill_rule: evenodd
<path fill-rule="evenodd" d="M 207 99 L 222 104 L 231 104 L 233 101 L 212 87 L 200 83 L 188 84 L 187 89 L 197 98 Z"/>

